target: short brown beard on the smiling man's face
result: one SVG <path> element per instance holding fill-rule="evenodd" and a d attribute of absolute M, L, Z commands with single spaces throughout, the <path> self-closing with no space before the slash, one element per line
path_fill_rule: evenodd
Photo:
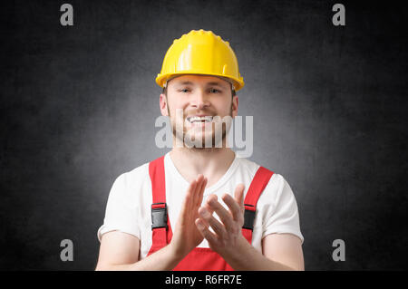
<path fill-rule="evenodd" d="M 175 120 L 172 120 L 169 107 L 168 113 L 170 117 L 173 138 L 175 138 L 174 140 L 176 140 L 176 147 L 178 147 L 179 144 L 180 147 L 199 149 L 200 151 L 202 151 L 219 149 L 223 147 L 224 143 L 226 143 L 227 134 L 230 128 L 230 123 L 232 121 L 232 104 L 230 106 L 228 115 L 223 117 L 223 119 L 227 119 L 227 121 L 219 121 L 221 120 L 221 117 L 219 117 L 218 115 L 214 115 L 209 111 L 201 112 L 202 114 L 213 116 L 213 121 L 210 122 L 210 129 L 209 125 L 206 125 L 204 127 L 190 126 L 190 129 L 187 130 L 185 125 L 186 123 L 189 123 L 189 120 L 187 120 L 187 114 L 181 112 L 181 116 L 181 113 L 180 115 L 176 113 Z"/>

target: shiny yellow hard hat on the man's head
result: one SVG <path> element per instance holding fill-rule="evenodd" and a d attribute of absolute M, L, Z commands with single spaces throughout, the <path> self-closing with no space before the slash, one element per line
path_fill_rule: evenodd
<path fill-rule="evenodd" d="M 212 31 L 191 30 L 174 40 L 164 56 L 156 83 L 164 87 L 170 78 L 181 74 L 205 74 L 227 78 L 236 91 L 244 87 L 237 56 L 227 41 Z"/>

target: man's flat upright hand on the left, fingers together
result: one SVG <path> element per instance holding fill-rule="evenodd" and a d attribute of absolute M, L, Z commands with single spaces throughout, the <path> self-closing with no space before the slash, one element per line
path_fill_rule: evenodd
<path fill-rule="evenodd" d="M 199 207 L 201 207 L 206 185 L 207 178 L 204 178 L 201 174 L 189 184 L 177 220 L 177 230 L 173 232 L 170 242 L 175 255 L 180 257 L 188 255 L 203 240 L 203 236 L 195 225 L 195 220 L 199 217 Z"/>

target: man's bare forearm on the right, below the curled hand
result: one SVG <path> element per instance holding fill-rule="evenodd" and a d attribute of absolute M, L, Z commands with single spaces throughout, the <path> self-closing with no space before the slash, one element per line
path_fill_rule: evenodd
<path fill-rule="evenodd" d="M 235 252 L 222 255 L 234 270 L 237 271 L 292 271 L 300 270 L 288 265 L 273 261 L 262 255 L 254 246 L 251 246 L 245 238 L 239 241 Z"/>

